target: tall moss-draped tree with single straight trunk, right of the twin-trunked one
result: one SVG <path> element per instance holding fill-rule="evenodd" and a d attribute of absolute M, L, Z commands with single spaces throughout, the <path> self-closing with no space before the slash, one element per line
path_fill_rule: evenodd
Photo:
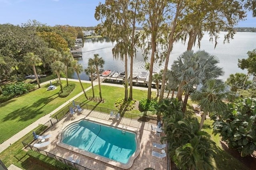
<path fill-rule="evenodd" d="M 162 53 L 168 29 L 166 21 L 170 12 L 168 0 L 145 0 L 142 3 L 145 20 L 142 23 L 143 34 L 141 47 L 144 49 L 145 61 L 150 57 L 149 80 L 148 80 L 148 100 L 151 100 L 151 85 L 154 63 L 161 64 L 165 59 Z"/>

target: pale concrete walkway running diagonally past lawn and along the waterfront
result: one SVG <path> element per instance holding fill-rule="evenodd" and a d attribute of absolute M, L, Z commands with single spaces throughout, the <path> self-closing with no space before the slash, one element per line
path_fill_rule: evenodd
<path fill-rule="evenodd" d="M 61 78 L 63 81 L 66 80 L 64 78 Z M 79 82 L 79 80 L 77 79 L 68 79 L 69 81 L 76 81 Z M 49 80 L 46 81 L 44 83 L 41 83 L 40 85 L 46 85 L 49 84 L 50 85 L 50 81 L 55 81 L 55 80 Z M 82 83 L 91 83 L 91 81 L 85 81 L 85 80 L 81 80 Z M 93 82 L 94 86 L 98 85 L 98 82 Z M 108 86 L 113 86 L 113 87 L 124 87 L 124 85 L 118 85 L 118 84 L 111 84 L 111 83 L 101 83 L 102 85 L 108 85 Z M 85 89 L 85 91 L 88 91 L 92 88 L 92 86 L 88 87 L 87 89 Z M 140 89 L 140 90 L 148 90 L 148 88 L 145 87 L 136 87 L 134 86 L 133 89 Z M 156 91 L 156 89 L 152 89 L 152 91 Z M 68 101 L 66 101 L 65 103 L 63 103 L 62 105 L 60 105 L 60 107 L 58 107 L 57 109 L 55 109 L 54 111 L 52 111 L 51 113 L 49 113 L 48 115 L 45 115 L 43 117 L 41 117 L 40 119 L 38 119 L 37 121 L 35 121 L 34 123 L 32 123 L 31 125 L 29 125 L 28 127 L 24 128 L 23 130 L 21 130 L 20 132 L 14 134 L 12 137 L 10 137 L 8 140 L 4 141 L 2 144 L 0 144 L 0 153 L 5 150 L 6 148 L 8 148 L 8 146 L 10 146 L 10 144 L 13 144 L 14 142 L 16 142 L 17 140 L 19 140 L 20 138 L 22 138 L 25 134 L 29 133 L 31 130 L 33 130 L 34 128 L 38 127 L 38 124 L 44 124 L 46 122 L 48 122 L 51 119 L 51 115 L 53 115 L 54 113 L 58 112 L 59 110 L 61 110 L 63 107 L 65 107 L 66 105 L 68 105 L 70 102 L 72 102 L 73 100 L 75 100 L 76 98 L 78 98 L 80 95 L 82 95 L 83 92 L 79 93 L 78 95 L 72 97 L 71 99 L 69 99 Z"/>

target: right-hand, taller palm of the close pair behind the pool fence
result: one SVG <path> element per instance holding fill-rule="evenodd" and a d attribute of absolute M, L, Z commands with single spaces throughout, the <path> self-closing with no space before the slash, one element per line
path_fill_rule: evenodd
<path fill-rule="evenodd" d="M 102 95 L 101 95 L 101 88 L 100 88 L 100 74 L 99 74 L 99 67 L 103 67 L 105 61 L 102 59 L 102 57 L 99 57 L 99 54 L 94 54 L 94 58 L 89 58 L 88 65 L 95 65 L 96 72 L 98 75 L 98 83 L 99 83 L 99 92 L 100 92 L 100 100 L 102 101 Z M 126 76 L 127 77 L 127 76 Z"/>

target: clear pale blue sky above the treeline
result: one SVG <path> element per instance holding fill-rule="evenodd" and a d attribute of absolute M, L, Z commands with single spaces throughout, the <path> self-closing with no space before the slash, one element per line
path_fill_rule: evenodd
<path fill-rule="evenodd" d="M 0 0 L 0 24 L 20 25 L 37 20 L 49 26 L 96 26 L 94 12 L 104 0 Z M 247 20 L 236 27 L 256 27 L 256 18 L 248 12 Z"/>

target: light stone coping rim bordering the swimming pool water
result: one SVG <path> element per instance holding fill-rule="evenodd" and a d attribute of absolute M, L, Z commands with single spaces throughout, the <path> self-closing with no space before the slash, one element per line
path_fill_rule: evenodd
<path fill-rule="evenodd" d="M 80 119 L 78 121 L 72 121 L 70 122 L 65 128 L 63 128 L 62 130 L 60 130 L 59 134 L 58 134 L 58 141 L 57 141 L 57 145 L 62 147 L 62 148 L 65 148 L 65 149 L 68 149 L 68 150 L 72 150 L 74 152 L 77 152 L 78 154 L 82 154 L 84 156 L 88 156 L 90 158 L 93 158 L 93 159 L 96 159 L 96 160 L 100 160 L 104 163 L 107 163 L 107 164 L 110 164 L 110 165 L 113 165 L 113 166 L 116 166 L 118 168 L 122 168 L 122 169 L 129 169 L 132 167 L 133 165 L 133 162 L 134 160 L 139 156 L 140 154 L 140 150 L 141 150 L 141 146 L 140 146 L 140 132 L 138 130 L 134 130 L 130 127 L 127 126 L 126 128 L 126 131 L 128 132 L 132 132 L 136 135 L 136 151 L 132 154 L 132 156 L 130 156 L 129 160 L 128 160 L 128 163 L 124 164 L 124 163 L 121 163 L 121 162 L 117 162 L 117 161 L 114 161 L 114 160 L 111 160 L 109 158 L 106 158 L 106 157 L 103 157 L 103 156 L 100 156 L 100 155 L 97 155 L 97 154 L 94 154 L 92 152 L 88 152 L 86 150 L 83 150 L 83 149 L 80 149 L 80 148 L 77 148 L 77 147 L 74 147 L 74 146 L 71 146 L 71 145 L 68 145 L 68 144 L 64 144 L 62 143 L 62 137 L 63 137 L 63 130 L 66 129 L 70 124 L 74 124 L 74 123 L 78 123 L 82 120 L 85 120 L 85 121 L 90 121 L 90 122 L 93 122 L 93 123 L 97 123 L 97 124 L 101 124 L 101 125 L 104 125 L 104 126 L 107 126 L 107 127 L 114 127 L 114 128 L 118 128 L 119 130 L 122 130 L 122 128 L 120 127 L 116 127 L 116 126 L 112 126 L 112 125 L 108 125 L 108 124 L 105 124 L 105 123 L 102 123 L 102 122 L 97 122 L 97 121 L 92 121 L 90 119 Z M 122 125 L 122 124 L 120 124 Z"/>

